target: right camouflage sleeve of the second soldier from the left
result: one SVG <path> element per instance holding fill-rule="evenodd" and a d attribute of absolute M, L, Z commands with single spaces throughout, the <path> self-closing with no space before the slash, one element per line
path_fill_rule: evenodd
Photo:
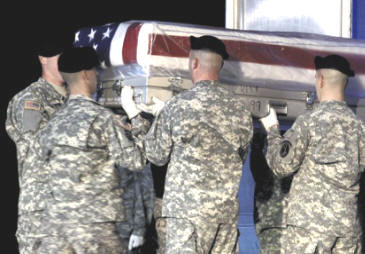
<path fill-rule="evenodd" d="M 117 166 L 131 171 L 142 170 L 146 165 L 143 148 L 136 144 L 129 132 L 125 131 L 117 116 L 112 115 L 106 128 L 109 152 Z"/>

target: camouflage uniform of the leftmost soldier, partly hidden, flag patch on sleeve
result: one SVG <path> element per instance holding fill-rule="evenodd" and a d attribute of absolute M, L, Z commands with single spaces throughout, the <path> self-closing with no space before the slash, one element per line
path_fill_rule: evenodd
<path fill-rule="evenodd" d="M 43 78 L 17 93 L 9 102 L 6 131 L 17 148 L 19 200 L 17 240 L 20 253 L 33 253 L 43 234 L 40 233 L 44 201 L 46 169 L 36 160 L 32 144 L 54 112 L 65 101 L 66 90 L 60 91 Z"/>

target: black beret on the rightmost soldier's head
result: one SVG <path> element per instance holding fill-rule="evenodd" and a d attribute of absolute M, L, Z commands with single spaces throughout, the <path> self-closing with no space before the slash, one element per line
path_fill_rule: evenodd
<path fill-rule="evenodd" d="M 339 55 L 328 55 L 326 57 L 316 56 L 314 65 L 318 69 L 334 69 L 346 74 L 349 77 L 355 76 L 353 70 L 350 69 L 350 63 L 346 58 Z"/>

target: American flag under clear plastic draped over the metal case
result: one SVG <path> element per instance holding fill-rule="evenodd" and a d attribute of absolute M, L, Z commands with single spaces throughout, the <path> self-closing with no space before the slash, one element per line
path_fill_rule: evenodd
<path fill-rule="evenodd" d="M 131 20 L 80 29 L 75 34 L 75 46 L 94 47 L 102 65 L 113 67 L 109 68 L 113 75 L 119 75 L 114 70 L 124 68 L 124 77 L 141 74 L 147 78 L 190 79 L 189 36 L 206 34 L 220 38 L 226 45 L 230 58 L 220 73 L 226 83 L 314 91 L 314 57 L 340 54 L 349 60 L 356 73 L 349 80 L 348 94 L 365 97 L 365 43 L 360 40 Z"/>

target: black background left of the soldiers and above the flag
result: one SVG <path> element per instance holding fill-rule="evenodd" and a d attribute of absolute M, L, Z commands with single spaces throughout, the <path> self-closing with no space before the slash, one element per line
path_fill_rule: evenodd
<path fill-rule="evenodd" d="M 79 28 L 128 20 L 156 20 L 224 27 L 225 1 L 23 1 L 6 4 L 1 17 L 1 231 L 2 253 L 18 253 L 15 238 L 18 174 L 14 143 L 5 132 L 9 100 L 41 75 L 35 55 L 49 31 L 72 34 Z M 77 5 L 75 5 L 77 3 Z M 196 5 L 199 4 L 199 5 Z"/>

